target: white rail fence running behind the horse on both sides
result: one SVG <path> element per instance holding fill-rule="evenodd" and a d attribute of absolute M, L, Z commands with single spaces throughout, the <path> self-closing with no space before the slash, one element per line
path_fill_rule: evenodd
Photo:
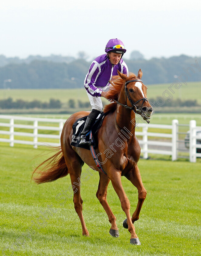
<path fill-rule="evenodd" d="M 11 147 L 14 144 L 33 145 L 34 148 L 47 144 L 59 146 L 60 135 L 65 121 L 65 119 L 0 115 L 0 142 L 7 142 Z M 138 127 L 142 127 L 142 131 L 138 131 Z M 160 131 L 164 129 L 165 132 L 148 132 L 149 128 L 160 129 Z M 201 130 L 201 127 L 196 127 L 196 121 L 191 120 L 189 138 L 190 162 L 196 162 L 196 157 L 201 157 L 201 153 L 196 153 L 196 148 L 201 148 L 201 144 L 196 144 L 196 129 L 198 128 Z M 169 133 L 167 133 L 167 130 Z M 57 134 L 49 134 L 51 131 L 54 131 L 54 133 L 56 131 Z M 172 161 L 177 159 L 178 120 L 172 120 L 172 125 L 138 123 L 136 126 L 136 135 L 142 137 L 138 141 L 141 145 L 143 158 L 147 159 L 148 154 L 151 153 L 171 155 Z M 20 139 L 17 139 L 17 137 L 20 137 Z M 30 137 L 32 140 L 29 139 Z M 150 137 L 154 137 L 155 140 L 150 140 Z M 151 145 L 155 146 L 156 149 L 150 149 L 149 146 Z"/>

